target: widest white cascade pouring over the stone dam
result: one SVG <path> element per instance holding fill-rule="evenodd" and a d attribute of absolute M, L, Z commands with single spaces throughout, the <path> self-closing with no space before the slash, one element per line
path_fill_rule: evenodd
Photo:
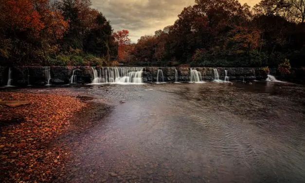
<path fill-rule="evenodd" d="M 143 84 L 143 68 L 136 67 L 102 67 L 99 77 L 96 69 L 92 68 L 94 79 L 91 84 Z"/>

